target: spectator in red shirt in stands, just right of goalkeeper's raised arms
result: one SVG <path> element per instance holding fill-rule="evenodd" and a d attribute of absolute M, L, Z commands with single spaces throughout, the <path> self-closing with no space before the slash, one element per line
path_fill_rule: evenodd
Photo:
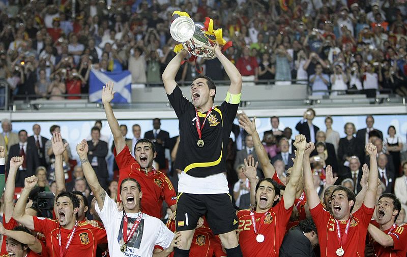
<path fill-rule="evenodd" d="M 250 56 L 250 49 L 248 47 L 243 48 L 242 57 L 236 62 L 236 68 L 243 78 L 243 86 L 254 85 L 253 81 L 258 79 L 258 63 L 255 57 Z"/>

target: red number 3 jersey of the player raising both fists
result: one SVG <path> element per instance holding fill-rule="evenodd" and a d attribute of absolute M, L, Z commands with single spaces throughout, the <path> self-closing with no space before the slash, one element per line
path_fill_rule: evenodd
<path fill-rule="evenodd" d="M 340 245 L 337 237 L 335 218 L 323 208 L 322 203 L 319 203 L 310 211 L 318 231 L 321 256 L 337 256 L 336 250 L 340 248 Z M 362 204 L 362 207 L 353 214 L 346 243 L 342 245 L 345 251 L 343 256 L 354 257 L 365 255 L 367 227 L 373 212 L 374 208 L 367 208 Z M 339 222 L 341 236 L 344 235 L 346 223 L 347 221 Z"/>

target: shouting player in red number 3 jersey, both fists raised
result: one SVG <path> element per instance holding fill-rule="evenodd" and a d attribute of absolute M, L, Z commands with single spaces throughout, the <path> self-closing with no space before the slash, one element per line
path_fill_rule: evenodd
<path fill-rule="evenodd" d="M 312 144 L 312 143 L 310 143 Z M 312 144 L 311 149 L 315 148 Z M 311 167 L 309 164 L 310 151 L 304 156 L 304 185 L 308 205 L 318 231 L 321 256 L 363 256 L 367 227 L 374 212 L 377 191 L 376 154 L 373 144 L 366 145 L 366 152 L 370 155 L 369 183 L 362 206 L 355 213 L 355 194 L 350 189 L 337 186 L 332 192 L 331 211 L 324 209 L 319 201 L 313 185 Z"/>

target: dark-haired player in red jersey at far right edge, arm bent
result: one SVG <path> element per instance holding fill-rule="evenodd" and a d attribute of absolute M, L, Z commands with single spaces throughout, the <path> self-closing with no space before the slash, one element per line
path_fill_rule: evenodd
<path fill-rule="evenodd" d="M 376 256 L 405 257 L 407 253 L 407 224 L 395 223 L 401 210 L 400 200 L 393 194 L 383 194 L 376 205 L 377 220 L 368 227 Z"/>

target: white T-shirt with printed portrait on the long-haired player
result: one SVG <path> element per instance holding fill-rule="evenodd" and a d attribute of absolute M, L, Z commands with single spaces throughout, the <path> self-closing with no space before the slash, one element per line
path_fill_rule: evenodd
<path fill-rule="evenodd" d="M 97 204 L 95 209 L 106 229 L 110 256 L 153 256 L 154 245 L 168 248 L 174 237 L 174 233 L 167 229 L 161 220 L 143 213 L 133 237 L 126 244 L 126 252 L 122 252 L 120 247 L 123 244 L 123 228 L 121 228 L 123 211 L 119 212 L 116 203 L 109 197 L 105 198 L 102 210 Z M 137 218 L 138 213 L 127 213 L 127 216 Z M 133 224 L 129 222 L 129 230 L 132 226 Z"/>

